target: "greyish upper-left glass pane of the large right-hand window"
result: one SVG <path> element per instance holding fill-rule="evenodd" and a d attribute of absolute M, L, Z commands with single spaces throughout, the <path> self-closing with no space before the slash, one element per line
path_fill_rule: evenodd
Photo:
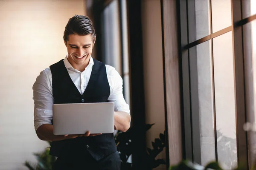
<path fill-rule="evenodd" d="M 189 1 L 188 3 L 193 3 L 193 1 Z M 195 0 L 195 4 L 191 6 L 193 8 L 189 9 L 189 11 L 193 10 L 192 13 L 195 15 L 189 15 L 189 20 L 195 20 L 195 23 L 193 23 L 195 32 L 192 34 L 195 37 L 190 37 L 189 42 L 199 40 L 210 34 L 209 0 Z"/>

